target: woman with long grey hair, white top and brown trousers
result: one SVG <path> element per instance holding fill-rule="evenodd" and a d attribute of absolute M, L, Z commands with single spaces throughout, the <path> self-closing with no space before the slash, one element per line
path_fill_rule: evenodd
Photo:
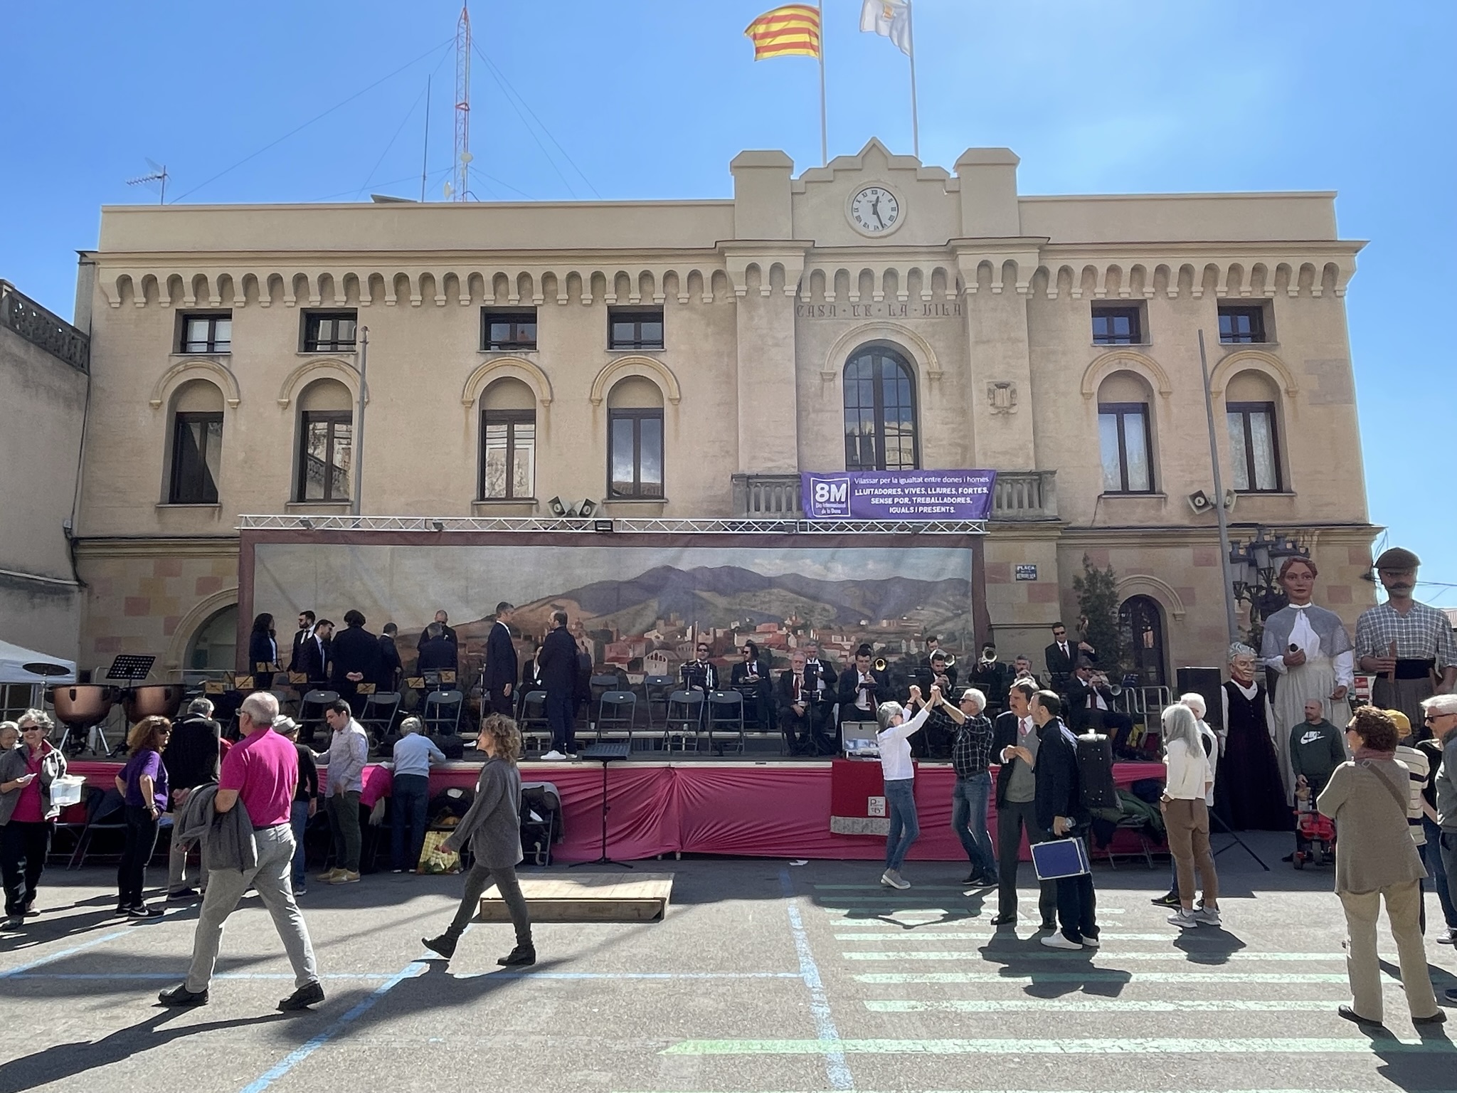
<path fill-rule="evenodd" d="M 1220 877 L 1209 851 L 1209 796 L 1214 767 L 1203 749 L 1199 721 L 1187 705 L 1170 705 L 1161 717 L 1167 780 L 1158 807 L 1169 832 L 1169 851 L 1179 876 L 1179 911 L 1169 921 L 1180 930 L 1220 924 Z M 1203 906 L 1193 906 L 1193 874 L 1203 882 Z"/>

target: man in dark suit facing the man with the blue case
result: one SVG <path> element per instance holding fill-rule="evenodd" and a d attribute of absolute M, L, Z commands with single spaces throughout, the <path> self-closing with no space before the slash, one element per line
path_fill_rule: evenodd
<path fill-rule="evenodd" d="M 992 925 L 1017 921 L 1017 858 L 1021 837 L 1042 842 L 1048 834 L 1037 823 L 1037 726 L 1029 702 L 1037 694 L 1032 683 L 1013 683 L 1007 713 L 992 726 L 992 759 L 997 768 L 997 917 Z M 1056 930 L 1058 892 L 1050 880 L 1039 882 L 1037 909 L 1042 930 Z"/>

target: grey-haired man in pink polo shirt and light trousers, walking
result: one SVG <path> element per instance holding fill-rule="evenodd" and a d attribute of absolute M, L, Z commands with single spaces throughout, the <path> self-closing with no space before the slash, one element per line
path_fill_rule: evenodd
<path fill-rule="evenodd" d="M 288 813 L 299 783 L 299 752 L 291 740 L 272 730 L 277 716 L 278 700 L 267 691 L 248 695 L 237 711 L 237 726 L 245 739 L 223 759 L 213 809 L 219 813 L 233 809 L 246 812 L 258 847 L 258 864 L 252 869 L 210 866 L 207 895 L 192 936 L 192 966 L 182 984 L 157 995 L 163 1006 L 207 1006 L 223 922 L 249 885 L 258 889 L 272 915 L 274 928 L 293 965 L 297 990 L 280 1001 L 278 1008 L 302 1010 L 323 1001 L 309 928 L 293 899 L 293 828 Z"/>

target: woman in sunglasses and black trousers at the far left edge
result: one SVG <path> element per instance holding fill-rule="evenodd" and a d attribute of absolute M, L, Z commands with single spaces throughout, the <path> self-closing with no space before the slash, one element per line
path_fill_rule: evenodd
<path fill-rule="evenodd" d="M 16 718 L 20 746 L 0 755 L 0 874 L 4 876 L 4 921 L 0 928 L 19 930 L 35 909 L 35 888 L 51 853 L 52 820 L 60 815 L 51 804 L 51 783 L 66 774 L 66 756 L 45 739 L 50 714 L 26 710 Z"/>

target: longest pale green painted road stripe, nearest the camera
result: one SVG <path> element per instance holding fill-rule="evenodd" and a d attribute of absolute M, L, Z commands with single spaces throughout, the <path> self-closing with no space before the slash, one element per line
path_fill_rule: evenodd
<path fill-rule="evenodd" d="M 1399 1036 L 1287 1038 L 1106 1038 L 1106 1039 L 941 1039 L 841 1041 L 847 1055 L 1457 1055 L 1447 1039 L 1402 1039 Z M 823 1041 L 683 1041 L 663 1055 L 819 1055 Z"/>

